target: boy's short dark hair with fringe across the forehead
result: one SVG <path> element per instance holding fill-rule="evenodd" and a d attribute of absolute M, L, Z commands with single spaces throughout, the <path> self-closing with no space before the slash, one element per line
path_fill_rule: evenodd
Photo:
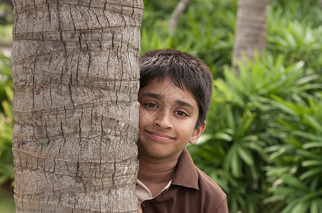
<path fill-rule="evenodd" d="M 212 100 L 212 72 L 198 58 L 180 50 L 152 50 L 140 57 L 140 89 L 152 80 L 170 80 L 192 93 L 199 108 L 195 128 L 206 120 Z"/>

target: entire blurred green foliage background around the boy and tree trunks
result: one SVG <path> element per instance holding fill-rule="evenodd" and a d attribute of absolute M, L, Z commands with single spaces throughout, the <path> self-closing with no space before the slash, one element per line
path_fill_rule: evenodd
<path fill-rule="evenodd" d="M 269 2 L 264 52 L 233 64 L 241 1 L 186 1 L 172 29 L 179 1 L 145 1 L 141 51 L 174 48 L 211 68 L 207 129 L 188 150 L 227 193 L 229 212 L 322 212 L 322 3 Z M 14 212 L 12 22 L 1 0 L 0 212 Z"/>

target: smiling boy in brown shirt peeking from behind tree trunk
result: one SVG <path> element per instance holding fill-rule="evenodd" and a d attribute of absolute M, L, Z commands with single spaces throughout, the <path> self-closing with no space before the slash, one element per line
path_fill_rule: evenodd
<path fill-rule="evenodd" d="M 204 131 L 211 99 L 212 74 L 201 60 L 178 50 L 140 58 L 139 212 L 228 212 L 224 192 L 185 148 Z"/>

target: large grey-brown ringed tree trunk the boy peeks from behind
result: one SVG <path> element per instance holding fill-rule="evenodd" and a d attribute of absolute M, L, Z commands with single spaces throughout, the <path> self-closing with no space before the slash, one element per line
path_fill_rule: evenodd
<path fill-rule="evenodd" d="M 16 212 L 137 212 L 142 0 L 13 0 Z"/>

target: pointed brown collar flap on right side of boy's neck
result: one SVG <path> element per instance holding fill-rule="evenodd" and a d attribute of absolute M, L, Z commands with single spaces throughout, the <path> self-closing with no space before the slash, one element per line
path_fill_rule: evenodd
<path fill-rule="evenodd" d="M 194 168 L 192 158 L 186 148 L 182 150 L 178 158 L 177 170 L 172 178 L 171 185 L 181 185 L 199 190 L 198 173 Z"/>

